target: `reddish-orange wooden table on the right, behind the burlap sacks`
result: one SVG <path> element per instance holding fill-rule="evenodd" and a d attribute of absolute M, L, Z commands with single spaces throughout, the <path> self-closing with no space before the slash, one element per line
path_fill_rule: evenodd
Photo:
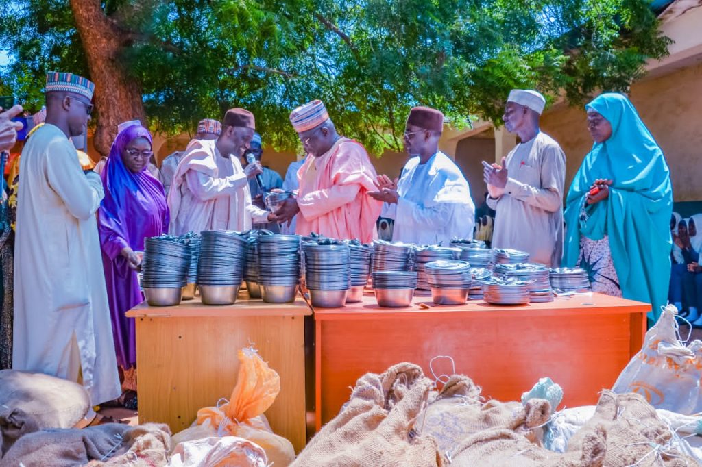
<path fill-rule="evenodd" d="M 420 305 L 430 309 L 421 309 Z M 486 398 L 519 400 L 541 377 L 562 386 L 567 407 L 597 403 L 642 345 L 649 304 L 582 294 L 546 304 L 437 306 L 416 297 L 383 309 L 373 295 L 340 309 L 315 309 L 317 430 L 336 416 L 366 372 L 411 362 L 431 377 L 430 360 L 451 356 L 456 372 Z M 432 365 L 451 374 L 449 360 Z"/>

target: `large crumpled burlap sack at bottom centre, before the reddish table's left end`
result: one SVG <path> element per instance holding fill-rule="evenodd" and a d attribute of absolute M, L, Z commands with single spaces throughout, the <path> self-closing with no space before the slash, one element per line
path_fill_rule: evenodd
<path fill-rule="evenodd" d="M 359 378 L 341 412 L 312 438 L 293 466 L 442 466 L 436 442 L 418 435 L 432 382 L 411 363 Z"/>

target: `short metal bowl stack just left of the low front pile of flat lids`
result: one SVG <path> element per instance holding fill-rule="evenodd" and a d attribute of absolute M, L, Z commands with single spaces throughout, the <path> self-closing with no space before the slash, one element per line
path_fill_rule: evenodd
<path fill-rule="evenodd" d="M 424 267 L 435 304 L 465 304 L 472 287 L 470 264 L 465 261 L 441 260 L 427 263 Z"/>

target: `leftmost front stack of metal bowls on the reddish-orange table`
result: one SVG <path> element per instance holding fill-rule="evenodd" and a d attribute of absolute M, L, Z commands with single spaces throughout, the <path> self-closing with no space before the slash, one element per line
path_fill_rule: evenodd
<path fill-rule="evenodd" d="M 312 306 L 339 308 L 351 284 L 348 245 L 305 245 L 305 283 Z"/>

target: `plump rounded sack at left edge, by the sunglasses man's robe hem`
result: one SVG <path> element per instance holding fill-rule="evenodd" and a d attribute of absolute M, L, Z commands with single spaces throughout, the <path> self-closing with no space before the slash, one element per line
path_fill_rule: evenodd
<path fill-rule="evenodd" d="M 41 373 L 0 371 L 0 458 L 20 436 L 45 428 L 71 428 L 90 408 L 80 384 Z"/>

